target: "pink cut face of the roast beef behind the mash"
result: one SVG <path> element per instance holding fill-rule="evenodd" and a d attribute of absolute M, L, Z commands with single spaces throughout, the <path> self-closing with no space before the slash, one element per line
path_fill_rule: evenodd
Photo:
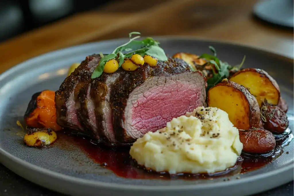
<path fill-rule="evenodd" d="M 204 80 L 199 81 L 198 76 L 182 73 L 172 77 L 153 77 L 145 82 L 146 85 L 135 89 L 129 97 L 132 102 L 128 101 L 125 110 L 128 135 L 139 138 L 149 131 L 155 132 L 173 118 L 202 106 Z"/>

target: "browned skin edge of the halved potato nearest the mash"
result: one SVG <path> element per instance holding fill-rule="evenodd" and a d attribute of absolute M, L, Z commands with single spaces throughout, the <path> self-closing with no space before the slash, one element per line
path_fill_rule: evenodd
<path fill-rule="evenodd" d="M 218 83 L 216 86 L 230 86 L 230 87 L 233 87 L 235 90 L 238 90 L 241 93 L 243 93 L 243 95 L 247 99 L 248 104 L 250 106 L 250 111 L 249 111 L 250 112 L 250 119 L 249 119 L 250 128 L 259 127 L 260 109 L 259 109 L 257 100 L 255 99 L 253 95 L 250 94 L 247 88 L 245 88 L 244 86 L 240 84 L 237 84 L 235 82 L 228 81 L 228 80 L 223 80 L 221 83 Z M 212 88 L 215 88 L 216 86 Z"/>

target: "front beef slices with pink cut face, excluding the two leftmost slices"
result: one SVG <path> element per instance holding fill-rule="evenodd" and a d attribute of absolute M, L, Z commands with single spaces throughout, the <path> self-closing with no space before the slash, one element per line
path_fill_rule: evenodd
<path fill-rule="evenodd" d="M 181 59 L 156 67 L 118 69 L 91 82 L 96 127 L 106 143 L 132 143 L 148 131 L 163 128 L 174 117 L 205 104 L 206 81 Z"/>

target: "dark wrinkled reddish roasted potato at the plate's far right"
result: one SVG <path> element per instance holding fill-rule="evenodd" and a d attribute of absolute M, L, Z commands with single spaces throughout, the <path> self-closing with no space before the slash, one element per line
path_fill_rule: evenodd
<path fill-rule="evenodd" d="M 266 100 L 262 103 L 260 112 L 263 127 L 273 133 L 283 133 L 289 125 L 286 113 L 276 105 L 270 105 Z"/>

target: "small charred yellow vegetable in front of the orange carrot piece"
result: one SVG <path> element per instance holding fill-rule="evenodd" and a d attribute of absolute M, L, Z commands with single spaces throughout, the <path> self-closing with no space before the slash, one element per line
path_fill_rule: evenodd
<path fill-rule="evenodd" d="M 56 133 L 52 130 L 34 130 L 24 136 L 24 143 L 27 146 L 44 147 L 52 144 L 57 139 Z"/>

